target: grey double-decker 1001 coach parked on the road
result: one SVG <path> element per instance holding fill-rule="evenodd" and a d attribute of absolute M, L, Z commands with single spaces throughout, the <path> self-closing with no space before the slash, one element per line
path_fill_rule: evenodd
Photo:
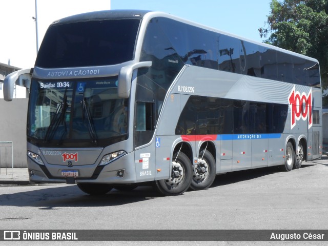
<path fill-rule="evenodd" d="M 217 174 L 291 171 L 321 156 L 316 59 L 170 14 L 59 19 L 29 73 L 33 182 L 89 194 L 153 182 L 178 195 Z M 16 78 L 5 81 L 6 100 Z"/>

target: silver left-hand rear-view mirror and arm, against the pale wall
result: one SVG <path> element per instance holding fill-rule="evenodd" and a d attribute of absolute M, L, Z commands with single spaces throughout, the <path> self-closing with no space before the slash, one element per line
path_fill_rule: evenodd
<path fill-rule="evenodd" d="M 30 82 L 31 81 L 31 68 L 21 69 L 21 70 L 12 72 L 12 73 L 8 74 L 5 77 L 5 80 L 4 80 L 4 99 L 6 101 L 11 101 L 12 100 L 16 81 L 22 75 L 29 75 L 29 79 L 30 79 L 29 82 Z M 24 86 L 29 88 L 29 86 L 30 86 L 29 84 L 30 83 L 28 83 L 28 85 L 24 85 Z"/>

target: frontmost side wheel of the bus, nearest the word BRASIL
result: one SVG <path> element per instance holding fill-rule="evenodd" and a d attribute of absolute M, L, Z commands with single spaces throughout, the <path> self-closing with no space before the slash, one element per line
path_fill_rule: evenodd
<path fill-rule="evenodd" d="M 179 152 L 173 160 L 171 177 L 155 181 L 157 190 L 166 196 L 181 195 L 190 187 L 192 179 L 191 161 L 187 155 Z"/>

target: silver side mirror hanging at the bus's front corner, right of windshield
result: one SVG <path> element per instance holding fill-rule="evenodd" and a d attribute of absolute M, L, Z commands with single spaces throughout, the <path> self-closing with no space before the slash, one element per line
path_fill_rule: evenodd
<path fill-rule="evenodd" d="M 140 61 L 126 67 L 122 67 L 118 73 L 117 93 L 120 98 L 129 98 L 133 71 L 137 68 L 149 68 L 151 61 Z"/>

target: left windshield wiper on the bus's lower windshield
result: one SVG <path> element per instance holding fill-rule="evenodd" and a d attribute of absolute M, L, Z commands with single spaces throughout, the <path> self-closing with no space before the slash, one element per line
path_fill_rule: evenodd
<path fill-rule="evenodd" d="M 63 132 L 63 135 L 61 136 L 60 139 L 63 138 L 64 134 L 67 131 L 66 130 L 66 121 L 65 121 L 65 113 L 66 113 L 66 110 L 68 109 L 66 92 L 67 92 L 67 88 L 64 93 L 63 101 L 58 105 L 58 107 L 56 109 L 56 113 L 53 116 L 52 120 L 50 121 L 50 125 L 48 127 L 48 130 L 47 130 L 46 136 L 45 136 L 45 142 L 49 142 L 49 140 L 51 140 L 54 137 L 58 126 L 60 124 L 63 124 L 63 122 L 65 123 L 65 131 Z"/>

